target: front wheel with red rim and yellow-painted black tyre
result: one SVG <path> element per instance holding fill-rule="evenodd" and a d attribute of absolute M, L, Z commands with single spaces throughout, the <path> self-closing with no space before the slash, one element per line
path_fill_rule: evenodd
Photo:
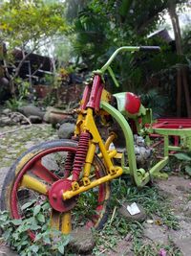
<path fill-rule="evenodd" d="M 33 215 L 36 205 L 46 205 L 43 209 L 45 220 L 62 233 L 65 221 L 71 221 L 72 228 L 94 226 L 101 228 L 107 219 L 107 204 L 110 185 L 103 183 L 78 197 L 66 200 L 67 212 L 59 212 L 49 204 L 49 192 L 58 180 L 66 175 L 65 162 L 69 152 L 76 152 L 73 140 L 56 140 L 42 143 L 26 151 L 12 166 L 5 178 L 1 210 L 11 212 L 13 219 L 27 219 Z M 91 169 L 91 179 L 106 175 L 102 161 L 95 155 Z M 61 181 L 60 181 L 61 182 Z M 79 180 L 80 183 L 80 180 Z M 47 207 L 49 205 L 49 207 Z M 30 231 L 32 239 L 40 230 Z"/>

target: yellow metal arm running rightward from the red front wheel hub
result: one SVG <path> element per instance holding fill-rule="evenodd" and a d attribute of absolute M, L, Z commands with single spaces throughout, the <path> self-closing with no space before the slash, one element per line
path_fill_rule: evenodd
<path fill-rule="evenodd" d="M 117 176 L 120 176 L 122 175 L 123 171 L 122 171 L 122 168 L 121 167 L 117 167 L 117 171 L 115 174 L 109 174 L 109 175 L 106 175 L 106 176 L 103 176 L 103 177 L 100 177 L 94 181 L 92 181 L 89 185 L 87 186 L 80 186 L 78 189 L 76 190 L 71 190 L 71 191 L 66 191 L 62 194 L 62 198 L 64 200 L 67 200 L 67 199 L 70 199 L 70 198 L 73 198 L 85 191 L 88 191 L 89 189 L 92 189 L 92 188 L 95 188 L 96 186 L 99 186 L 100 184 L 102 183 L 105 183 L 105 182 L 108 182 L 114 178 L 116 178 Z"/>

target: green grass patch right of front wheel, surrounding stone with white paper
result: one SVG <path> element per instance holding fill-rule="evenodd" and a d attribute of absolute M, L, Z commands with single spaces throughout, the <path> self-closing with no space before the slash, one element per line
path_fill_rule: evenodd
<path fill-rule="evenodd" d="M 129 234 L 129 244 L 136 256 L 157 256 L 162 248 L 168 254 L 180 256 L 180 250 L 173 244 L 155 244 L 142 240 L 143 224 L 138 221 L 127 221 L 117 213 L 117 208 L 124 202 L 137 202 L 145 209 L 147 219 L 157 217 L 158 224 L 167 228 L 179 229 L 179 222 L 170 209 L 169 201 L 159 193 L 156 186 L 147 186 L 138 190 L 130 185 L 128 180 L 119 178 L 113 181 L 113 193 L 109 206 L 110 219 L 105 224 L 103 230 L 95 231 L 96 247 L 94 255 L 104 255 L 106 250 L 117 253 L 115 247 L 119 241 Z M 128 244 L 128 243 L 127 243 Z"/>

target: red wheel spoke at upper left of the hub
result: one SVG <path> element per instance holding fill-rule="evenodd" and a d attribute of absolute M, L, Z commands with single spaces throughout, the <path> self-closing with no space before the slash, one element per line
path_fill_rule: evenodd
<path fill-rule="evenodd" d="M 41 163 L 41 159 L 34 162 L 32 169 L 30 170 L 33 175 L 40 177 L 49 184 L 53 184 L 54 181 L 58 180 L 58 177 L 44 167 Z"/>

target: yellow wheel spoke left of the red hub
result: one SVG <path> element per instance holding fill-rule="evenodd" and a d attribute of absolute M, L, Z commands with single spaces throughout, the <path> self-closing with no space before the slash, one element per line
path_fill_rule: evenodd
<path fill-rule="evenodd" d="M 43 182 L 30 175 L 23 175 L 20 187 L 32 189 L 45 196 L 48 194 L 48 187 Z"/>

